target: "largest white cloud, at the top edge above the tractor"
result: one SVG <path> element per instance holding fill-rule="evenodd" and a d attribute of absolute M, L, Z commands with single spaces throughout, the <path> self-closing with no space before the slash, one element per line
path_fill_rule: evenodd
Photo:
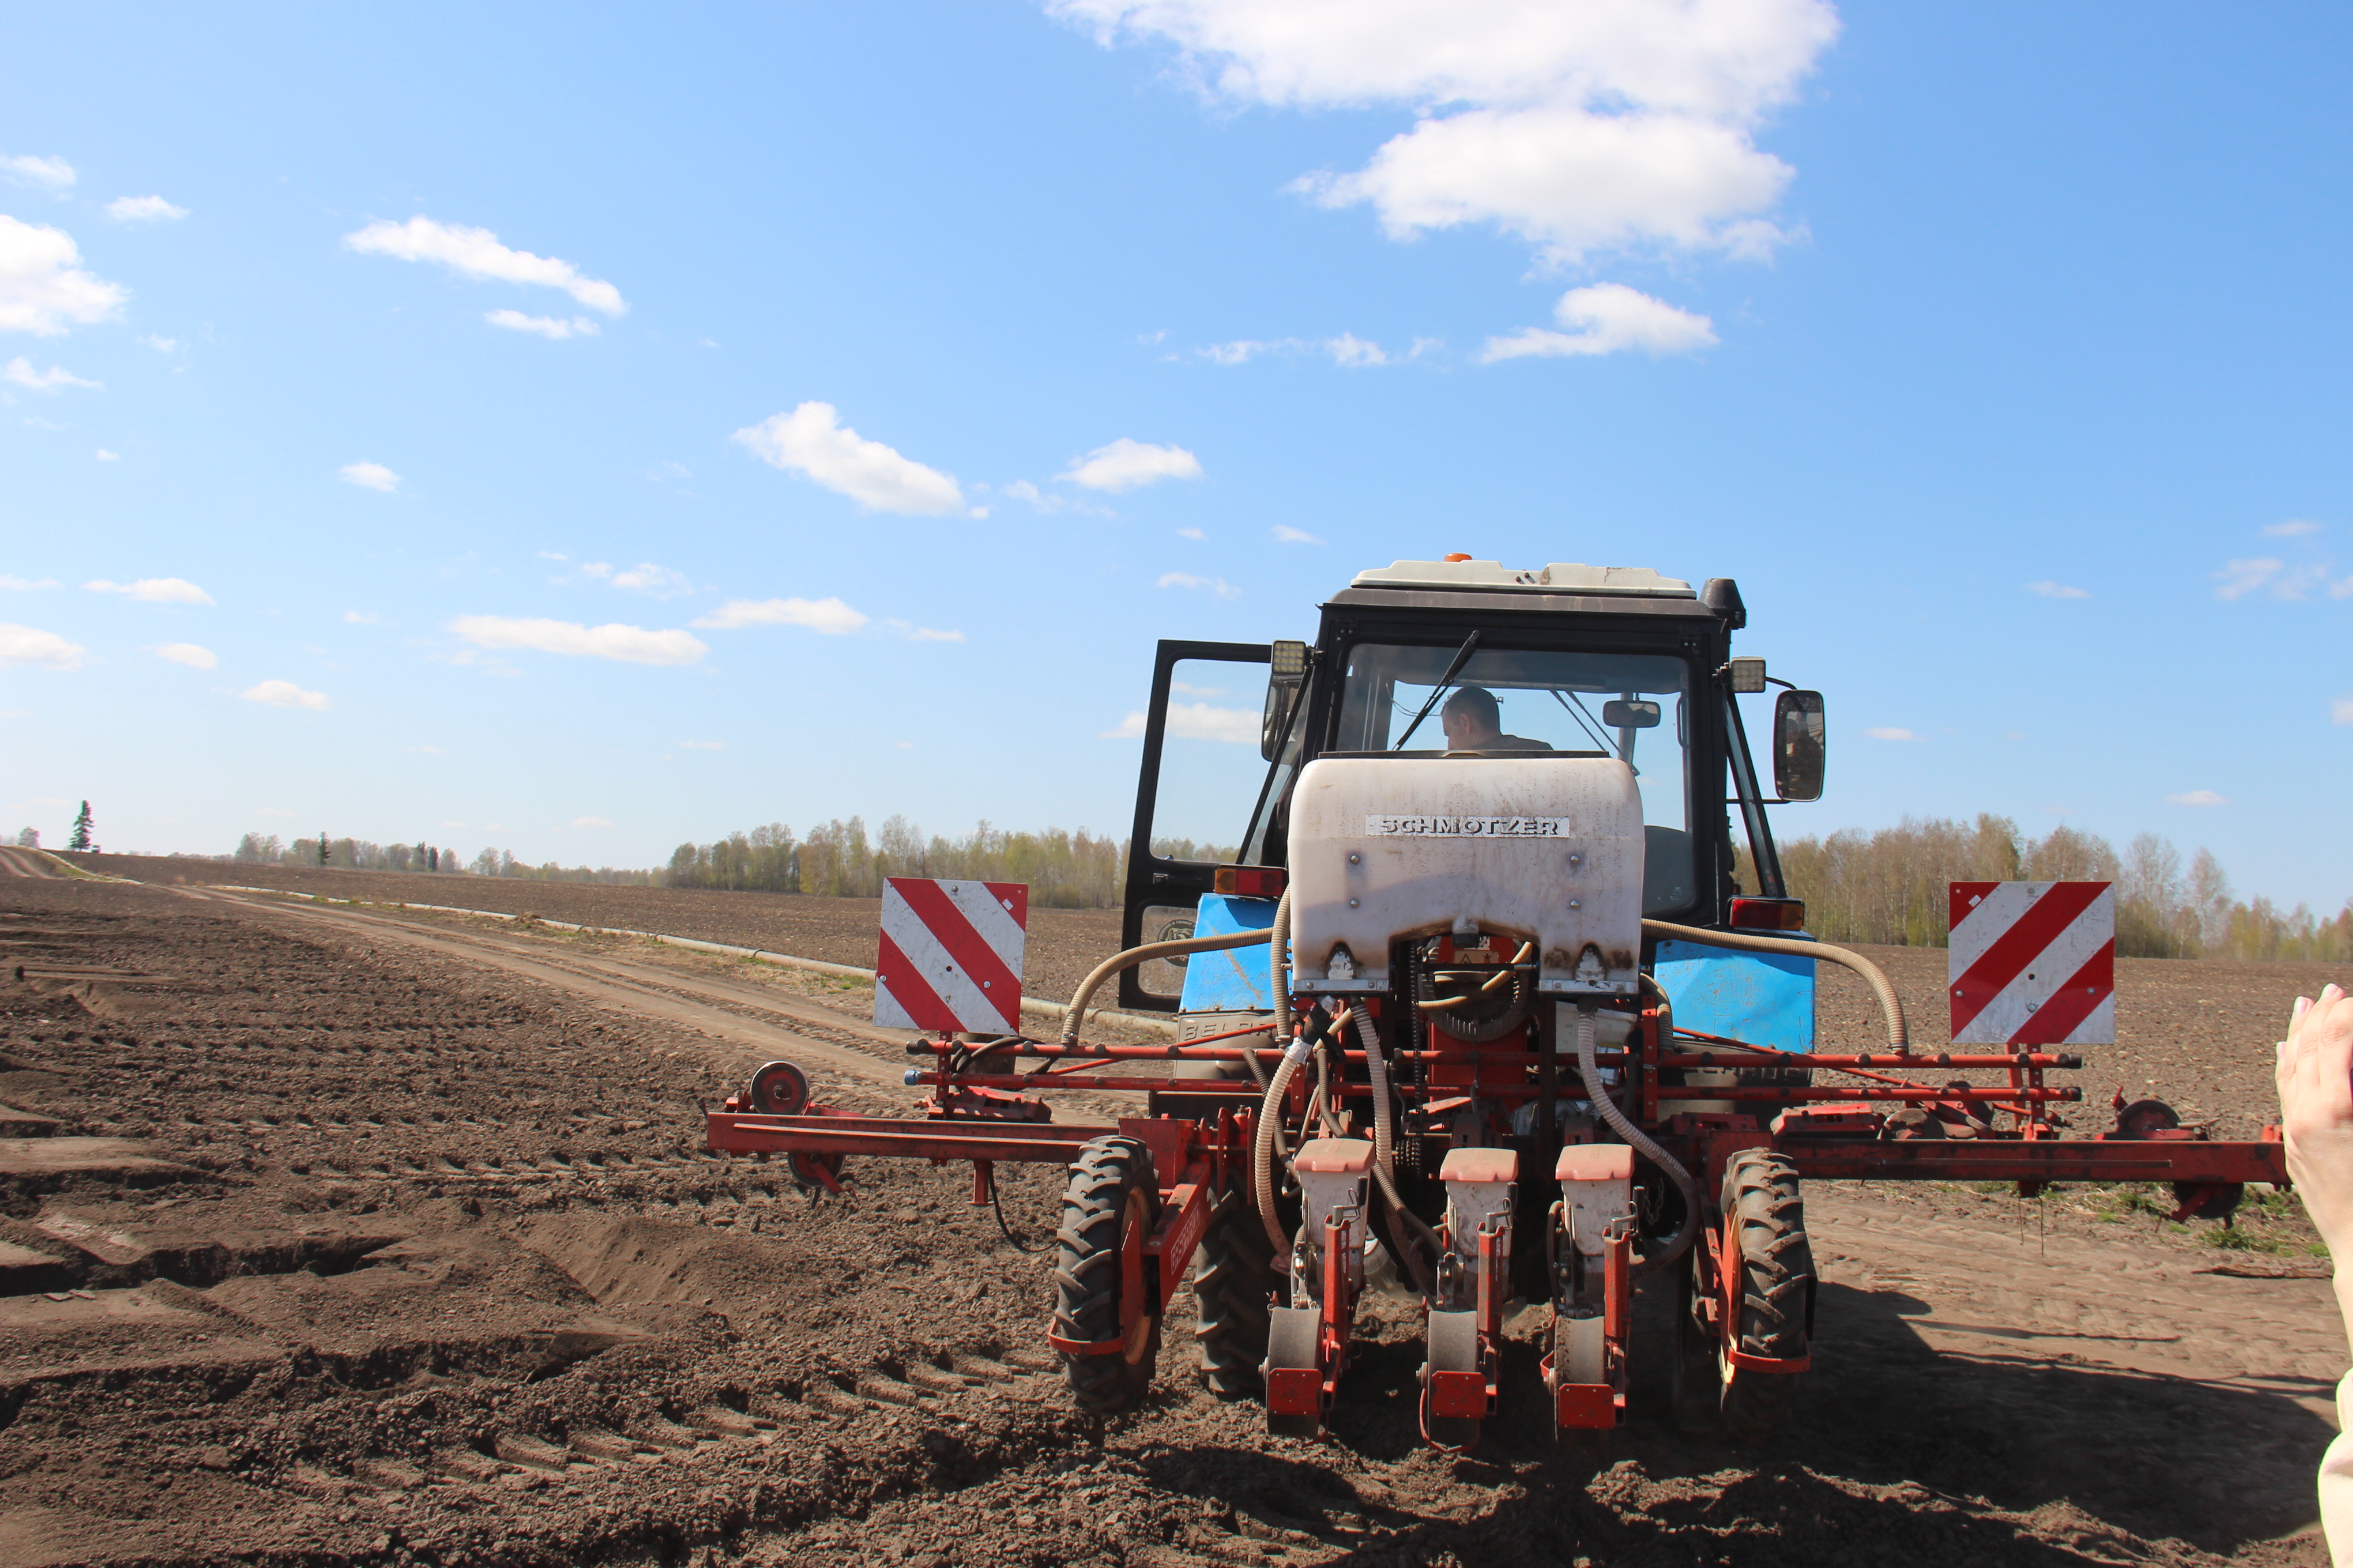
<path fill-rule="evenodd" d="M 1525 5 L 1515 0 L 1047 0 L 1120 38 L 1160 38 L 1212 99 L 1412 108 L 1351 174 L 1297 188 L 1369 202 L 1393 237 L 1497 223 L 1553 261 L 1595 249 L 1769 252 L 1793 169 L 1758 150 L 1838 38 L 1826 0 Z"/>

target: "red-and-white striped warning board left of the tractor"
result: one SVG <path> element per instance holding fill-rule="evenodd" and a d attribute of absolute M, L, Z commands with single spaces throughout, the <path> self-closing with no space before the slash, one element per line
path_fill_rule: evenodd
<path fill-rule="evenodd" d="M 889 877 L 875 1023 L 972 1034 L 1019 1030 L 1026 936 L 1026 882 Z"/>

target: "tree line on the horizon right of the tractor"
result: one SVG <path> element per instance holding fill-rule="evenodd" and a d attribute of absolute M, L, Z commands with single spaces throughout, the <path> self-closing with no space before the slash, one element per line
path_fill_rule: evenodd
<path fill-rule="evenodd" d="M 2115 950 L 2144 959 L 2353 961 L 2353 900 L 2334 917 L 2238 898 L 2212 851 L 2144 832 L 2118 853 L 2099 835 L 2054 827 L 2033 839 L 2007 816 L 1974 823 L 1904 818 L 1781 844 L 1781 877 L 1805 900 L 1807 931 L 1831 943 L 1944 947 L 1951 882 L 2113 882 Z M 1755 875 L 1746 851 L 1741 886 Z"/>

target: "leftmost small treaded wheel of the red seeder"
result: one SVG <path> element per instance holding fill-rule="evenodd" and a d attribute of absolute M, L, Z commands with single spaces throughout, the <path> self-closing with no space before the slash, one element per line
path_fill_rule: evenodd
<path fill-rule="evenodd" d="M 1120 1246 L 1129 1232 L 1141 1246 L 1158 1211 L 1153 1157 L 1134 1138 L 1096 1138 L 1071 1161 L 1071 1185 L 1061 1194 L 1061 1229 L 1054 1232 L 1054 1333 L 1082 1345 L 1120 1340 L 1108 1354 L 1061 1352 L 1071 1394 L 1089 1415 L 1134 1410 L 1153 1382 L 1153 1363 L 1160 1359 L 1160 1314 L 1146 1300 L 1134 1326 L 1120 1333 Z"/>

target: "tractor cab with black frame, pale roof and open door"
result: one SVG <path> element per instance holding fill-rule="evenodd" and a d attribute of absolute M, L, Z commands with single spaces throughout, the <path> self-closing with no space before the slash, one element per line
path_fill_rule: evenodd
<path fill-rule="evenodd" d="M 1313 644 L 1162 642 L 1120 945 L 1266 924 L 1299 778 L 1322 757 L 1442 759 L 1468 780 L 1489 762 L 1621 762 L 1640 795 L 1645 919 L 1795 929 L 1765 804 L 1819 799 L 1824 708 L 1781 691 L 1765 795 L 1739 698 L 1767 675 L 1732 656 L 1744 625 L 1732 578 L 1694 592 L 1642 567 L 1449 557 L 1358 574 L 1322 604 Z M 1231 959 L 1167 959 L 1127 971 L 1120 1004 L 1231 1013 L 1271 1006 L 1264 987 Z"/>

